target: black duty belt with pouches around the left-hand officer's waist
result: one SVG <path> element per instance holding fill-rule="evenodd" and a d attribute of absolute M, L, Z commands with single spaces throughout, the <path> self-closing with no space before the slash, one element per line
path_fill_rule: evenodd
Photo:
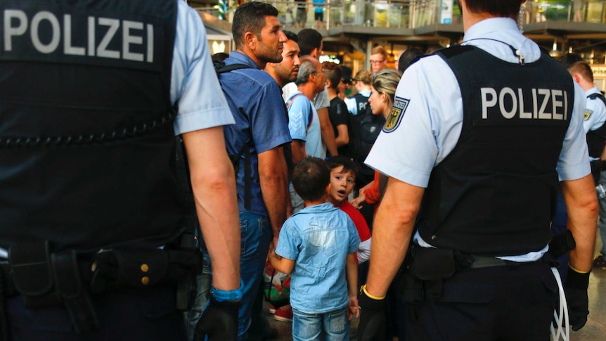
<path fill-rule="evenodd" d="M 4 276 L 10 278 L 2 289 L 4 296 L 20 293 L 26 309 L 63 304 L 75 330 L 86 333 L 99 328 L 91 293 L 172 283 L 176 309 L 188 309 L 199 262 L 198 245 L 188 233 L 162 249 L 101 250 L 94 255 L 51 252 L 49 241 L 17 243 L 8 251 Z"/>

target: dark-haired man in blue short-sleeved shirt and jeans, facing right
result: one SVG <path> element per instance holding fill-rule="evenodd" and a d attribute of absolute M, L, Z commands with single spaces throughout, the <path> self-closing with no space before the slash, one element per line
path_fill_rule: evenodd
<path fill-rule="evenodd" d="M 251 314 L 260 314 L 252 311 L 252 302 L 262 281 L 269 243 L 272 236 L 274 241 L 278 240 L 286 219 L 288 189 L 282 146 L 291 139 L 278 83 L 262 71 L 266 63 L 282 60 L 283 43 L 287 39 L 277 15 L 276 8 L 269 4 L 249 2 L 238 7 L 232 25 L 237 50 L 225 64 L 244 64 L 248 68 L 219 75 L 236 120 L 236 124 L 224 128 L 228 154 L 238 155 L 242 148 L 250 152 L 248 156 L 246 153 L 240 156 L 236 174 L 242 237 L 240 275 L 244 282 L 240 340 L 248 336 Z M 249 190 L 250 198 L 245 200 Z"/>

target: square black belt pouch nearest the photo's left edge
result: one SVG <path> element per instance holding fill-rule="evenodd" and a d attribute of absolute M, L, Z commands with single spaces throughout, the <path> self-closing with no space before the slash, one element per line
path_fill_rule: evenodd
<path fill-rule="evenodd" d="M 41 298 L 52 292 L 53 277 L 49 255 L 49 242 L 47 240 L 15 243 L 8 250 L 8 263 L 13 274 L 15 290 L 23 295 L 24 303 L 28 307 L 32 307 L 27 302 L 28 298 Z M 37 301 L 39 301 L 39 304 L 34 304 L 34 306 L 47 306 L 45 302 Z"/>

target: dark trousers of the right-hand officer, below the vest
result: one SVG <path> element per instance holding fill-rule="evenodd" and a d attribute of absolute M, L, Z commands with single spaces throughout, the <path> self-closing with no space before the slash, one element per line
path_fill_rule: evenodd
<path fill-rule="evenodd" d="M 459 271 L 427 296 L 408 304 L 408 340 L 549 340 L 557 282 L 545 262 L 515 263 Z"/>

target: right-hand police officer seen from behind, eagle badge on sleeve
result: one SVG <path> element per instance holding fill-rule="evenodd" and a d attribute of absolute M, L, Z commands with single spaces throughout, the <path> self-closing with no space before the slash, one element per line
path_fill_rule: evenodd
<path fill-rule="evenodd" d="M 389 182 L 358 340 L 383 340 L 385 293 L 403 262 L 410 340 L 548 340 L 559 181 L 576 240 L 560 301 L 573 330 L 587 321 L 598 203 L 584 94 L 521 34 L 524 2 L 459 0 L 463 43 L 420 58 L 401 78 L 366 159 Z"/>

